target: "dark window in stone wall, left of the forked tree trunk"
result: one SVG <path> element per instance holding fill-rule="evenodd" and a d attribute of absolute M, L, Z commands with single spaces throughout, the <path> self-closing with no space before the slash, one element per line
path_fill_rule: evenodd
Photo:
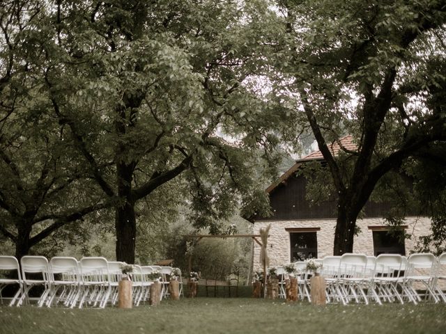
<path fill-rule="evenodd" d="M 299 232 L 295 232 L 296 230 Z M 318 241 L 316 236 L 316 231 L 318 230 L 320 229 L 289 229 L 291 262 L 318 257 Z"/>

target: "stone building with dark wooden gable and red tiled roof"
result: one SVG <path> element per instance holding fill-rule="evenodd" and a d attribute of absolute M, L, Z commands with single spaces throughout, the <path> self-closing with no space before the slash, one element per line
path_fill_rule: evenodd
<path fill-rule="evenodd" d="M 341 138 L 348 150 L 354 150 L 351 136 Z M 339 152 L 339 145 L 331 146 L 333 154 Z M 254 216 L 254 234 L 269 224 L 268 255 L 270 265 L 279 266 L 309 257 L 323 258 L 332 255 L 334 228 L 336 226 L 336 202 L 334 200 L 310 205 L 305 198 L 306 180 L 298 173 L 309 161 L 323 161 L 321 152 L 316 151 L 296 163 L 280 177 L 280 181 L 266 189 L 270 196 L 272 216 Z M 410 239 L 399 237 L 399 232 L 389 234 L 383 215 L 389 205 L 369 201 L 364 207 L 364 218 L 357 219 L 360 233 L 355 236 L 354 253 L 379 255 L 399 253 L 409 255 L 415 248 L 417 238 L 429 234 L 430 219 L 422 216 L 407 216 L 401 226 Z M 260 246 L 254 244 L 254 270 L 260 269 Z"/>

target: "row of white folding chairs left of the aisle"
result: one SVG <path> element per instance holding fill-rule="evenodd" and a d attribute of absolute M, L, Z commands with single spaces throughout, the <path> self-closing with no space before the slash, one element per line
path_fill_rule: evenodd
<path fill-rule="evenodd" d="M 86 305 L 105 308 L 118 301 L 118 283 L 123 278 L 121 268 L 124 262 L 108 261 L 105 257 L 52 257 L 26 255 L 17 261 L 16 257 L 0 255 L 0 271 L 7 271 L 8 276 L 0 276 L 0 300 L 3 304 L 2 291 L 8 286 L 17 286 L 17 291 L 10 297 L 9 305 L 24 305 L 31 301 L 41 307 L 46 305 L 64 305 L 69 308 L 83 308 Z M 169 276 L 171 267 L 132 265 L 130 274 L 133 289 L 133 303 L 139 305 L 148 300 L 154 272 L 160 273 L 162 291 L 160 298 L 169 294 Z M 180 295 L 183 295 L 183 281 L 179 273 Z M 14 278 L 11 278 L 14 277 Z M 40 292 L 31 297 L 31 289 Z"/>

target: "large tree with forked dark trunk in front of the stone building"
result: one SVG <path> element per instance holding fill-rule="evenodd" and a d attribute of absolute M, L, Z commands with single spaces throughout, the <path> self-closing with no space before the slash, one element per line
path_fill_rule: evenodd
<path fill-rule="evenodd" d="M 278 86 L 298 100 L 337 194 L 334 254 L 378 181 L 446 140 L 445 1 L 277 1 Z M 344 134 L 357 143 L 334 157 Z"/>

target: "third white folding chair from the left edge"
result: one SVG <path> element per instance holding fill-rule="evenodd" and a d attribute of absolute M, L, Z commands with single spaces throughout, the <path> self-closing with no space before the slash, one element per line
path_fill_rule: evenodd
<path fill-rule="evenodd" d="M 63 301 L 63 305 L 74 308 L 79 300 L 79 263 L 74 257 L 52 257 L 49 260 L 50 294 L 46 305 Z"/>

